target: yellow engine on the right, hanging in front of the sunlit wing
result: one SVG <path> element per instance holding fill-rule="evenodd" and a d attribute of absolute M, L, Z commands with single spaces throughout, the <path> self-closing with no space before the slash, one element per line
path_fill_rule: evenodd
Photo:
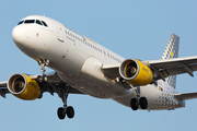
<path fill-rule="evenodd" d="M 119 67 L 119 74 L 132 85 L 147 85 L 153 79 L 151 69 L 137 59 L 125 60 Z"/>

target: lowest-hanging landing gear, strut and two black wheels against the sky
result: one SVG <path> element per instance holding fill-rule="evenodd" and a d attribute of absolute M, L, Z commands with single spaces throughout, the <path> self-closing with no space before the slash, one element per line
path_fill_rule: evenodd
<path fill-rule="evenodd" d="M 70 86 L 68 86 L 67 91 L 65 91 L 62 86 L 60 86 L 58 90 L 58 95 L 63 103 L 63 107 L 59 107 L 57 110 L 57 115 L 60 120 L 65 119 L 66 115 L 70 119 L 74 117 L 73 107 L 67 106 L 67 98 L 69 95 L 69 90 L 70 90 Z"/>

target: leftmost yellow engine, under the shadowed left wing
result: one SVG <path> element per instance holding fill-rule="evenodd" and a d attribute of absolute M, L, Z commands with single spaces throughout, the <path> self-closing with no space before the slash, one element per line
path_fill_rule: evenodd
<path fill-rule="evenodd" d="M 33 100 L 40 96 L 40 87 L 25 74 L 13 74 L 8 81 L 8 90 L 18 98 Z"/>

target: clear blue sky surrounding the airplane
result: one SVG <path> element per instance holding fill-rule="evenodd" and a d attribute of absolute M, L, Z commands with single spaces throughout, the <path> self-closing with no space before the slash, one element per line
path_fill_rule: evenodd
<path fill-rule="evenodd" d="M 13 73 L 38 74 L 38 64 L 21 52 L 12 40 L 12 28 L 32 14 L 55 19 L 125 58 L 160 59 L 172 33 L 181 37 L 179 57 L 197 55 L 197 2 L 195 0 L 48 0 L 0 2 L 0 81 Z M 47 69 L 47 71 L 50 71 Z M 177 76 L 179 93 L 196 92 L 197 73 Z M 12 95 L 0 97 L 0 129 L 3 131 L 73 130 L 119 131 L 196 129 L 197 99 L 186 108 L 163 111 L 132 111 L 111 99 L 88 95 L 69 95 L 76 109 L 73 119 L 59 120 L 62 106 L 55 94 L 24 102 Z"/>

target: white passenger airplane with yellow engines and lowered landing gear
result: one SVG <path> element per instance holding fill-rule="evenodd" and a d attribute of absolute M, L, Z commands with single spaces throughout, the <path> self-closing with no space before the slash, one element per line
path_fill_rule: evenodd
<path fill-rule="evenodd" d="M 176 92 L 176 75 L 197 71 L 197 56 L 178 58 L 179 37 L 172 34 L 159 60 L 125 59 L 61 23 L 42 15 L 22 19 L 12 31 L 16 47 L 40 66 L 40 74 L 14 73 L 0 82 L 0 95 L 23 100 L 57 93 L 60 120 L 74 117 L 69 94 L 111 98 L 132 110 L 185 107 L 197 92 Z M 53 72 L 46 73 L 46 67 Z"/>

